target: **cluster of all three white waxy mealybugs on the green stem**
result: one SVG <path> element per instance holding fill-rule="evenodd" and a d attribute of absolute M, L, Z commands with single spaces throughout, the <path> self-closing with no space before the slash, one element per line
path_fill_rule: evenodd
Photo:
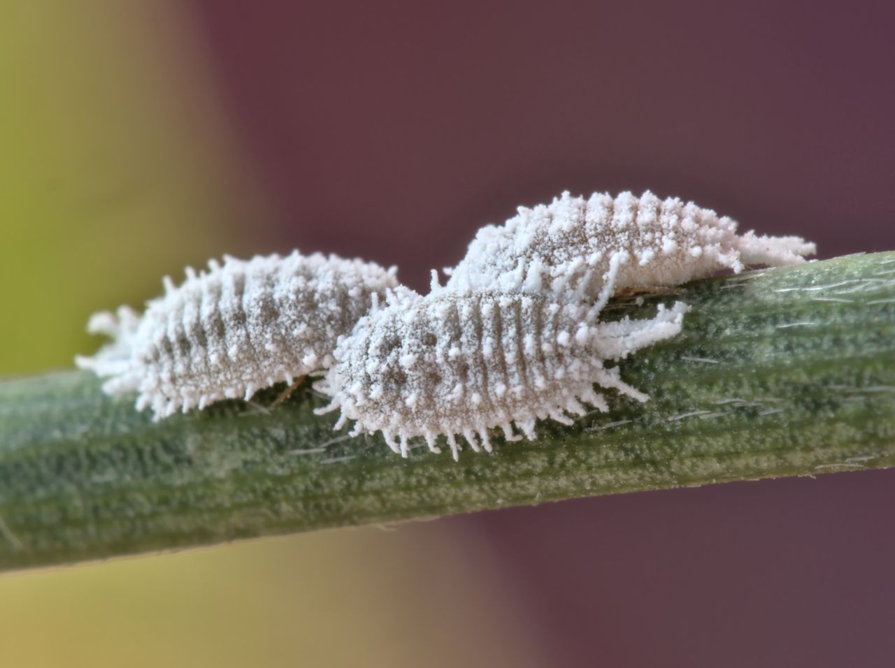
<path fill-rule="evenodd" d="M 533 438 L 537 419 L 568 423 L 594 390 L 645 401 L 605 362 L 680 331 L 686 305 L 652 319 L 602 323 L 616 292 L 684 283 L 722 268 L 804 261 L 797 237 L 737 235 L 737 224 L 679 199 L 564 192 L 483 227 L 465 258 L 430 292 L 400 285 L 396 269 L 297 252 L 212 261 L 187 270 L 140 315 L 98 313 L 89 330 L 112 342 L 79 358 L 110 394 L 137 393 L 156 419 L 308 375 L 340 410 L 337 427 L 381 431 L 406 456 L 422 437 L 456 459 L 462 435 L 491 450 L 490 431 Z"/>

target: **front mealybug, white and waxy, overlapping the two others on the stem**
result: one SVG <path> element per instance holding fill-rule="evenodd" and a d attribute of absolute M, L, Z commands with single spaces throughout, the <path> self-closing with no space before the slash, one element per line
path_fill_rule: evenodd
<path fill-rule="evenodd" d="M 685 310 L 678 303 L 652 320 L 625 320 L 601 332 L 599 309 L 545 295 L 422 297 L 401 289 L 339 342 L 336 364 L 318 382 L 333 396 L 320 412 L 341 409 L 337 427 L 352 419 L 354 434 L 381 430 L 405 456 L 413 436 L 438 452 L 441 434 L 455 459 L 456 434 L 473 450 L 490 451 L 491 427 L 515 440 L 515 423 L 531 438 L 536 419 L 570 424 L 567 413 L 584 414 L 584 403 L 606 410 L 594 383 L 645 401 L 603 361 L 677 334 Z"/>

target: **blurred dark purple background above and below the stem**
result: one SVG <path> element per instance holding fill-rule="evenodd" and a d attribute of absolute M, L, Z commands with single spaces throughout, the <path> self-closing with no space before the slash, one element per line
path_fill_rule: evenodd
<path fill-rule="evenodd" d="M 260 9 L 263 6 L 263 10 Z M 197 3 L 282 249 L 423 289 L 561 190 L 895 249 L 895 5 Z M 556 665 L 891 665 L 895 471 L 558 503 L 484 529 Z"/>

